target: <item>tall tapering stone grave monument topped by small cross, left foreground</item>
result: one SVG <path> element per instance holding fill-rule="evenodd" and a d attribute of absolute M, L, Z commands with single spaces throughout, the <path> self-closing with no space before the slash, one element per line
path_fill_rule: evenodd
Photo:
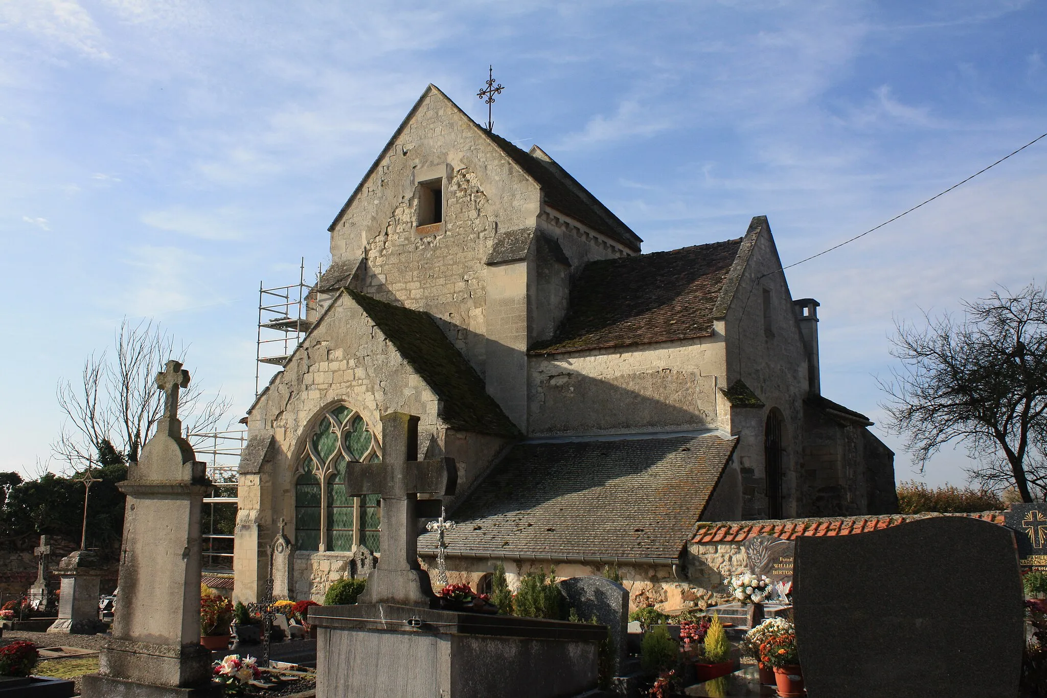
<path fill-rule="evenodd" d="M 210 695 L 210 652 L 200 645 L 200 513 L 204 464 L 181 436 L 178 390 L 190 383 L 169 361 L 156 383 L 163 416 L 119 483 L 127 495 L 113 638 L 86 698 Z"/>

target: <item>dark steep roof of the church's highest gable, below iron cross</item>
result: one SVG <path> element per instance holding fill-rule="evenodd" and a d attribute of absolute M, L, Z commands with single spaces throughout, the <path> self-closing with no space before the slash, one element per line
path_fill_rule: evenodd
<path fill-rule="evenodd" d="M 549 159 L 547 160 L 540 157 L 535 157 L 534 155 L 516 148 L 502 136 L 487 131 L 473 121 L 468 114 L 462 111 L 462 108 L 455 105 L 450 97 L 440 90 L 440 88 L 431 84 L 425 88 L 422 95 L 418 98 L 415 105 L 410 108 L 410 111 L 407 112 L 407 115 L 400 122 L 400 126 L 397 127 L 395 132 L 393 132 L 393 136 L 385 143 L 385 147 L 382 148 L 378 157 L 375 158 L 375 161 L 371 164 L 367 172 L 356 185 L 356 188 L 353 189 L 353 194 L 350 195 L 349 199 L 338 211 L 338 215 L 334 217 L 331 225 L 328 226 L 328 231 L 334 230 L 334 226 L 338 223 L 338 220 L 344 216 L 347 210 L 349 210 L 349 207 L 363 188 L 364 183 L 371 178 L 375 170 L 378 168 L 378 165 L 381 164 L 385 153 L 396 144 L 400 134 L 403 133 L 404 128 L 406 128 L 410 118 L 415 115 L 422 102 L 430 92 L 439 94 L 446 99 L 449 105 L 458 110 L 459 114 L 461 114 L 468 123 L 472 125 L 478 134 L 483 135 L 491 143 L 497 147 L 498 150 L 500 150 L 510 160 L 515 162 L 520 170 L 527 173 L 535 184 L 541 188 L 542 197 L 550 206 L 565 213 L 566 216 L 570 216 L 579 223 L 583 223 L 591 228 L 602 232 L 611 240 L 621 243 L 629 250 L 634 252 L 640 251 L 640 243 L 643 242 L 640 237 L 632 232 L 627 225 L 622 223 L 617 216 L 611 213 L 610 210 L 600 203 L 596 197 L 589 194 L 585 187 L 579 184 L 574 177 L 569 175 L 562 167 L 553 162 L 548 155 L 544 155 L 544 153 L 538 150 L 538 153 Z"/>

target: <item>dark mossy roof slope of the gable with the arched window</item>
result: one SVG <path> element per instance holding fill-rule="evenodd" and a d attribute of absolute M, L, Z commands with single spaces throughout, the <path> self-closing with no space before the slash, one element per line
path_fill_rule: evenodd
<path fill-rule="evenodd" d="M 454 348 L 431 315 L 356 291 L 347 289 L 346 293 L 437 393 L 442 402 L 440 418 L 448 426 L 477 433 L 519 435 L 519 429 L 487 393 L 484 379 Z"/>

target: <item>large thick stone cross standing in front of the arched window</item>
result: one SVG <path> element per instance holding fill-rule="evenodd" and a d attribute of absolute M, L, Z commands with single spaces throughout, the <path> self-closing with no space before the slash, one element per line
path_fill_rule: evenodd
<path fill-rule="evenodd" d="M 381 557 L 367 577 L 363 604 L 430 606 L 436 594 L 418 564 L 418 495 L 454 494 L 453 458 L 418 460 L 419 418 L 404 412 L 382 415 L 382 461 L 352 464 L 346 472 L 350 496 L 382 498 Z"/>

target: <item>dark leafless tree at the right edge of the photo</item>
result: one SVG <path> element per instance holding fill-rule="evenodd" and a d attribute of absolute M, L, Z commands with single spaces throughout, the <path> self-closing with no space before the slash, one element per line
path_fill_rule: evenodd
<path fill-rule="evenodd" d="M 920 471 L 956 440 L 980 464 L 971 479 L 1033 501 L 1047 496 L 1047 292 L 1002 291 L 962 301 L 959 320 L 896 323 L 891 354 L 903 367 L 881 382 L 882 406 Z"/>

